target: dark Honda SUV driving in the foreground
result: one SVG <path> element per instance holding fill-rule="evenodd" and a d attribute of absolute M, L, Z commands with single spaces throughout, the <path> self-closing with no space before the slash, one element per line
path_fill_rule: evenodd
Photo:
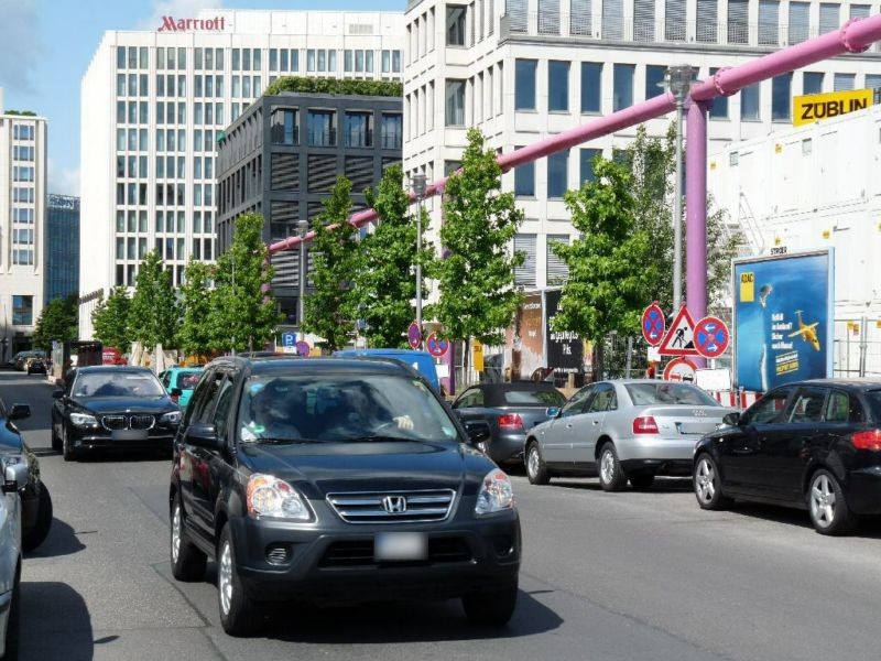
<path fill-rule="evenodd" d="M 371 358 L 219 358 L 175 440 L 171 563 L 217 561 L 220 621 L 261 603 L 460 597 L 507 622 L 520 520 L 508 476 L 416 371 Z"/>

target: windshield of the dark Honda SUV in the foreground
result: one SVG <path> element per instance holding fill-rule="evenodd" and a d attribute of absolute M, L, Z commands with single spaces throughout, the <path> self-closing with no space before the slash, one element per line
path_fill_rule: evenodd
<path fill-rule="evenodd" d="M 455 441 L 456 427 L 422 381 L 400 375 L 251 377 L 239 438 L 254 441 Z"/>

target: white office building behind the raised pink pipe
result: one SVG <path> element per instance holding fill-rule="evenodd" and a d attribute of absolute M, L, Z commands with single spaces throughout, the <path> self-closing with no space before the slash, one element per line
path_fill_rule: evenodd
<path fill-rule="evenodd" d="M 670 65 L 706 78 L 879 12 L 879 2 L 779 0 L 411 0 L 406 10 L 404 166 L 435 181 L 459 164 L 468 127 L 508 153 L 662 91 Z M 792 97 L 881 87 L 878 46 L 781 75 L 714 102 L 709 152 L 792 122 Z M 673 116 L 648 123 L 663 134 Z M 596 153 L 624 148 L 635 129 L 507 173 L 525 212 L 514 248 L 518 283 L 544 288 L 565 269 L 548 249 L 574 230 L 566 189 L 592 176 Z M 439 226 L 435 199 L 433 227 Z M 737 209 L 729 209 L 737 217 Z"/>

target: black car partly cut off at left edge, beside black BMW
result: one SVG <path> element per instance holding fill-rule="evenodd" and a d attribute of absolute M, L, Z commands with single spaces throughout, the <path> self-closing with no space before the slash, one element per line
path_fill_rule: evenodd
<path fill-rule="evenodd" d="M 15 426 L 15 420 L 31 416 L 28 404 L 12 404 L 7 409 L 0 401 L 0 465 L 23 462 L 28 465 L 29 479 L 19 489 L 21 496 L 21 544 L 25 551 L 33 551 L 48 534 L 52 527 L 52 496 L 40 476 L 40 460 L 31 452 Z"/>

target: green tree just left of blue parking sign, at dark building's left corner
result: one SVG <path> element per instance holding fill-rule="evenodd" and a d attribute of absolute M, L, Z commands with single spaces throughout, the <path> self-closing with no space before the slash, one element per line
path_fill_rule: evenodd
<path fill-rule="evenodd" d="M 239 216 L 232 245 L 217 260 L 210 314 L 214 348 L 254 350 L 272 339 L 280 322 L 270 289 L 272 275 L 263 217 Z"/>

